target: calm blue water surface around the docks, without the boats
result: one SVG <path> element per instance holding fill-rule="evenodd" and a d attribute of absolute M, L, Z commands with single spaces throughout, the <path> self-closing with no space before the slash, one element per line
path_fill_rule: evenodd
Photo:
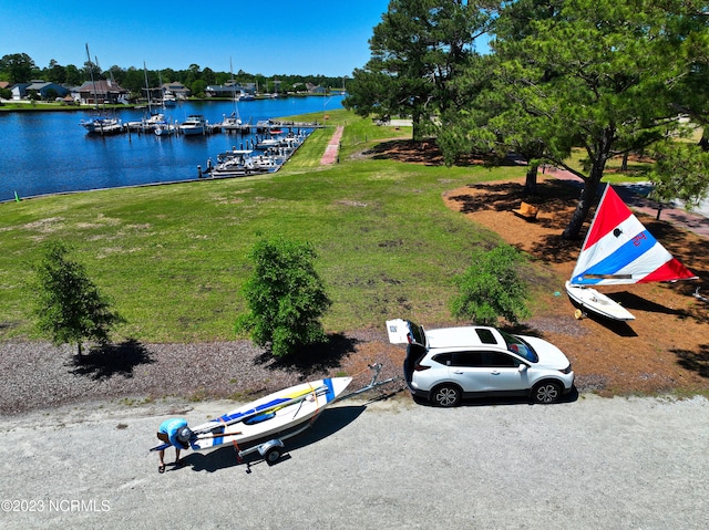
<path fill-rule="evenodd" d="M 342 96 L 288 97 L 239 102 L 244 122 L 326 113 L 341 108 Z M 230 102 L 189 102 L 164 111 L 167 119 L 184 122 L 203 114 L 209 123 L 222 122 L 234 111 Z M 140 121 L 146 111 L 124 110 L 123 122 Z M 238 134 L 206 136 L 136 133 L 115 136 L 88 135 L 79 125 L 86 112 L 0 113 L 0 201 L 44 194 L 79 191 L 138 184 L 188 180 L 207 158 L 248 141 Z M 321 117 L 320 117 L 321 119 Z"/>

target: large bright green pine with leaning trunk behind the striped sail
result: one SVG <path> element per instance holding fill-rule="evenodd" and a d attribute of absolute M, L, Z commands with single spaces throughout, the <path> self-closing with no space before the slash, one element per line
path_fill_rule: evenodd
<path fill-rule="evenodd" d="M 564 166 L 572 145 L 586 152 L 583 170 L 567 167 L 585 186 L 565 238 L 578 236 L 608 159 L 679 127 L 675 103 L 686 85 L 678 80 L 693 67 L 687 40 L 707 31 L 689 23 L 692 17 L 684 0 L 571 0 L 552 17 L 518 18 L 524 31 L 497 35 L 501 74 L 535 117 L 552 147 L 546 155 Z"/>

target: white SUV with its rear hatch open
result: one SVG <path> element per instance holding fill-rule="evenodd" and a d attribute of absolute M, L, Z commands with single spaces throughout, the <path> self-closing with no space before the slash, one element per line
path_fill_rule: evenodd
<path fill-rule="evenodd" d="M 387 321 L 387 331 L 392 344 L 408 344 L 403 373 L 411 394 L 441 407 L 486 395 L 556 403 L 574 385 L 566 355 L 542 339 L 482 325 L 427 331 L 401 319 Z"/>

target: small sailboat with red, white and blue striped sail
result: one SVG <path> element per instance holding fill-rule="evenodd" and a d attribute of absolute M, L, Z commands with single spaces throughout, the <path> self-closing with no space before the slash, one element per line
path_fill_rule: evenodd
<path fill-rule="evenodd" d="M 566 292 L 579 308 L 607 319 L 635 320 L 633 313 L 597 285 L 693 280 L 697 277 L 660 245 L 610 187 L 600 198 L 596 215 L 578 254 Z"/>

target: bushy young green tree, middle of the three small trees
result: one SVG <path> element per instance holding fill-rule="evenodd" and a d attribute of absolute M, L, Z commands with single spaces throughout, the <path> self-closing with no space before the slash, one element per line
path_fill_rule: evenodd
<path fill-rule="evenodd" d="M 314 248 L 274 237 L 259 240 L 249 259 L 254 273 L 244 285 L 249 312 L 238 318 L 237 332 L 250 332 L 260 346 L 270 343 L 277 357 L 325 341 L 319 319 L 331 301 L 315 270 Z"/>

